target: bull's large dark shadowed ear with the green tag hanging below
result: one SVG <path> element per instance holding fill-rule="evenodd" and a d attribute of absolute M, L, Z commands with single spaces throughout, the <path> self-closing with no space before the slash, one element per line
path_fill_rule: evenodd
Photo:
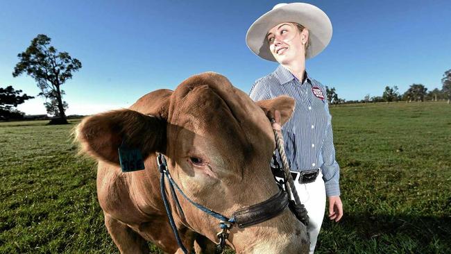
<path fill-rule="evenodd" d="M 84 153 L 119 164 L 119 146 L 139 149 L 146 158 L 164 152 L 166 121 L 133 110 L 114 110 L 87 117 L 76 128 L 76 139 Z"/>

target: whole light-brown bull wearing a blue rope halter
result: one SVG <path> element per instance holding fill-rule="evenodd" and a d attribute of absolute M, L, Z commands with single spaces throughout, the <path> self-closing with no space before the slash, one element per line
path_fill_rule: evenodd
<path fill-rule="evenodd" d="M 192 201 L 230 217 L 278 193 L 269 168 L 275 142 L 267 116 L 279 110 L 282 124 L 294 101 L 278 97 L 254 103 L 227 78 L 204 73 L 175 91 L 146 94 L 130 109 L 83 119 L 77 127 L 82 151 L 98 160 L 97 194 L 105 225 L 121 253 L 148 253 L 151 241 L 165 253 L 178 247 L 160 194 L 156 153 Z M 265 115 L 266 113 L 266 115 Z M 145 170 L 122 173 L 118 147 L 139 149 Z M 169 193 L 168 184 L 167 193 Z M 178 194 L 185 217 L 169 202 L 189 252 L 213 252 L 219 220 Z M 305 226 L 287 208 L 248 228 L 234 226 L 228 245 L 237 253 L 308 253 Z"/>

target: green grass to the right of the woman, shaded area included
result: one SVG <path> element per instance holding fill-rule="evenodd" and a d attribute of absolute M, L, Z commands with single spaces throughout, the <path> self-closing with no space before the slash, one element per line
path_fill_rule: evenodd
<path fill-rule="evenodd" d="M 330 109 L 345 216 L 318 253 L 451 253 L 451 105 Z"/>

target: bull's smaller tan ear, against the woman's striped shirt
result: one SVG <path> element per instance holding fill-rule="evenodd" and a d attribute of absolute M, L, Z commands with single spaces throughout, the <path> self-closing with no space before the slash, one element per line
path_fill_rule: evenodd
<path fill-rule="evenodd" d="M 257 101 L 255 103 L 262 108 L 266 117 L 269 119 L 274 118 L 275 110 L 278 110 L 280 112 L 281 126 L 290 119 L 291 115 L 293 115 L 295 105 L 293 98 L 284 95 L 270 100 Z"/>

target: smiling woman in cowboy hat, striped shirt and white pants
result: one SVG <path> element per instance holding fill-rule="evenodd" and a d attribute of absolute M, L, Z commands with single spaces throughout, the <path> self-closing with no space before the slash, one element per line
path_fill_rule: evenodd
<path fill-rule="evenodd" d="M 296 100 L 282 135 L 290 169 L 296 172 L 294 185 L 309 215 L 310 253 L 323 223 L 326 196 L 329 219 L 339 221 L 343 216 L 325 87 L 305 71 L 305 60 L 323 51 L 331 37 L 330 19 L 308 3 L 274 6 L 250 26 L 246 35 L 251 51 L 280 64 L 256 81 L 250 97 L 259 101 L 285 94 Z"/>

